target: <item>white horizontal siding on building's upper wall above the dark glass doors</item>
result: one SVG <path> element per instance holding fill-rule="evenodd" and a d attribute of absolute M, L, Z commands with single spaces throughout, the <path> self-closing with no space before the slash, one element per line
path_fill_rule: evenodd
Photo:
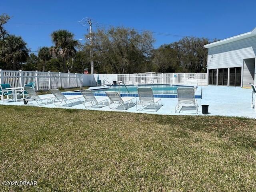
<path fill-rule="evenodd" d="M 256 57 L 256 36 L 208 48 L 208 69 L 242 67 L 244 59 Z"/>

